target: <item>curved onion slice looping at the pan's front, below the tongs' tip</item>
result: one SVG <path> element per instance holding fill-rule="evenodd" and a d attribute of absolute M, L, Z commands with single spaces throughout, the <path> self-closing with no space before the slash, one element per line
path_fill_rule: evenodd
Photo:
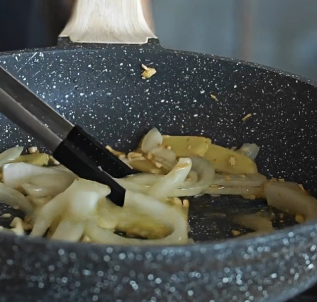
<path fill-rule="evenodd" d="M 170 225 L 172 228 L 171 234 L 155 240 L 123 238 L 114 234 L 113 230 L 99 227 L 95 222 L 88 222 L 85 234 L 94 242 L 104 244 L 175 245 L 186 244 L 188 241 L 187 219 L 175 207 L 168 206 L 143 194 L 127 191 L 123 208 L 117 210 L 122 212 L 134 210 L 135 215 L 138 215 L 139 212 L 145 212 L 148 219 L 160 219 L 165 224 Z M 111 211 L 109 211 L 109 214 L 111 214 Z"/>

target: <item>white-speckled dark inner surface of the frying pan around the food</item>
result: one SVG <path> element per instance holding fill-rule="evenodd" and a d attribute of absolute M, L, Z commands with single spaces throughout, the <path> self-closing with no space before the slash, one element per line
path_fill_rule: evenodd
<path fill-rule="evenodd" d="M 141 63 L 158 73 L 142 80 Z M 165 50 L 156 40 L 142 51 L 139 46 L 127 50 L 62 40 L 58 48 L 3 55 L 0 64 L 105 145 L 131 150 L 152 127 L 170 135 L 204 135 L 221 146 L 257 143 L 260 172 L 299 182 L 317 193 L 317 89 L 296 76 L 216 56 Z M 243 122 L 248 113 L 252 117 Z M 2 116 L 0 125 L 2 150 L 16 144 L 40 146 Z M 296 223 L 265 201 L 204 196 L 191 199 L 191 236 L 195 241 L 218 240 L 232 237 L 232 229 L 250 231 L 232 223 L 232 217 L 260 210 L 273 213 L 275 228 Z M 1 213 L 8 211 L 1 207 Z"/>

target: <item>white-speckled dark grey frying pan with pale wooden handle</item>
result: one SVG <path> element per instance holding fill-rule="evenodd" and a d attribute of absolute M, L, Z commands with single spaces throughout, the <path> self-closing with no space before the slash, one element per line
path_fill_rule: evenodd
<path fill-rule="evenodd" d="M 302 183 L 316 195 L 316 83 L 257 64 L 163 49 L 140 8 L 138 0 L 78 0 L 64 31 L 70 39 L 2 53 L 0 64 L 113 148 L 135 148 L 152 127 L 204 135 L 222 146 L 255 142 L 260 172 Z M 157 74 L 142 80 L 141 63 Z M 247 113 L 252 118 L 242 122 Z M 0 125 L 1 149 L 40 146 L 3 116 Z M 188 246 L 0 234 L 0 301 L 285 301 L 317 281 L 316 222 L 288 226 L 289 218 L 286 225 L 276 222 L 286 228 L 274 233 L 232 239 L 237 226 L 211 215 L 265 206 L 235 197 L 191 200 L 196 243 Z M 1 206 L 8 211 L 21 215 Z"/>

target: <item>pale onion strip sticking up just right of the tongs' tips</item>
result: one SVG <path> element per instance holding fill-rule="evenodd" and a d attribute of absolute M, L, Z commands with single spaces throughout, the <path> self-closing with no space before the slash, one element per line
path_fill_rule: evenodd
<path fill-rule="evenodd" d="M 190 158 L 181 157 L 174 168 L 165 176 L 155 182 L 146 192 L 158 200 L 164 200 L 171 195 L 171 192 L 184 183 L 190 169 L 192 160 Z"/>

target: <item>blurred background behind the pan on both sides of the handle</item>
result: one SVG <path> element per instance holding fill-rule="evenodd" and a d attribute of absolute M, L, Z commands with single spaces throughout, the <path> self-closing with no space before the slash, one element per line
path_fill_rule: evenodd
<path fill-rule="evenodd" d="M 72 2 L 0 0 L 0 51 L 56 44 Z M 165 48 L 244 59 L 317 80 L 316 0 L 152 0 L 152 10 Z"/>

